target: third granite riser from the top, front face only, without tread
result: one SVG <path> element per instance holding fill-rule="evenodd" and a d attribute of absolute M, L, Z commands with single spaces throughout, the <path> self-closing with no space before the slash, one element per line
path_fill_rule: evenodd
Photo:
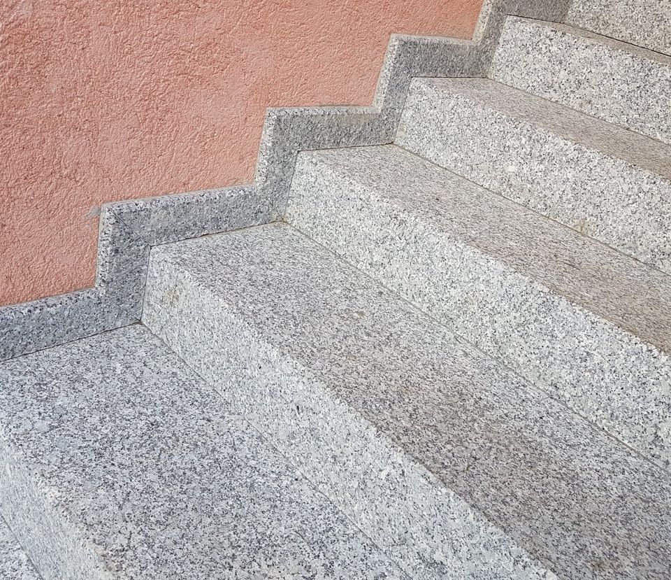
<path fill-rule="evenodd" d="M 669 179 L 421 80 L 412 83 L 395 141 L 671 273 Z"/>

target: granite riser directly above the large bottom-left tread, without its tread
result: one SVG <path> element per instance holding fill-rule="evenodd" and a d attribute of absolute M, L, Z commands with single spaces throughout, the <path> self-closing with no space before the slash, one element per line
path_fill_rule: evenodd
<path fill-rule="evenodd" d="M 154 256 L 143 322 L 413 578 L 555 578 L 221 297 Z"/>

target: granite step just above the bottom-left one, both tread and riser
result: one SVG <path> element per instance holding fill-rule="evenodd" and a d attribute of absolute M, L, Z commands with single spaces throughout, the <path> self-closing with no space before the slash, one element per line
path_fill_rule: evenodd
<path fill-rule="evenodd" d="M 671 574 L 668 474 L 287 225 L 153 248 L 143 319 L 413 578 Z"/>

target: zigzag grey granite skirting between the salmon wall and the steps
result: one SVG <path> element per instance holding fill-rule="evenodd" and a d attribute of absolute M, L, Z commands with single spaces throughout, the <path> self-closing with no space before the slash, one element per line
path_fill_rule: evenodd
<path fill-rule="evenodd" d="M 484 0 L 472 41 L 392 35 L 373 106 L 268 109 L 254 184 L 110 204 L 103 213 L 118 220 L 101 221 L 101 241 L 110 246 L 99 241 L 96 288 L 0 308 L 0 360 L 133 323 L 142 307 L 143 249 L 276 220 L 299 150 L 391 143 L 413 77 L 484 76 L 507 14 L 561 21 L 569 6 L 570 0 Z M 96 301 L 104 303 L 101 312 L 92 308 Z"/>

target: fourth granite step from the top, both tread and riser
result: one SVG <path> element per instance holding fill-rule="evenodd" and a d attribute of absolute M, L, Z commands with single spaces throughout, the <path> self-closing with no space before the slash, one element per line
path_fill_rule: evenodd
<path fill-rule="evenodd" d="M 394 146 L 301 153 L 287 220 L 671 467 L 671 276 Z"/>

